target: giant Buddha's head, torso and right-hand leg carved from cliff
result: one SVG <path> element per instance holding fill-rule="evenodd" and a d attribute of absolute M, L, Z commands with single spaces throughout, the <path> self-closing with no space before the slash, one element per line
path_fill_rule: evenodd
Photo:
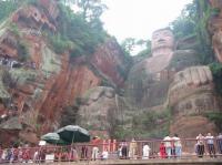
<path fill-rule="evenodd" d="M 170 29 L 154 31 L 151 44 L 151 58 L 130 71 L 127 90 L 133 105 L 159 112 L 170 107 L 173 112 L 170 132 L 183 136 L 184 130 L 190 130 L 184 137 L 192 136 L 196 127 L 200 132 L 216 132 L 213 123 L 203 116 L 220 107 L 209 66 L 200 64 L 194 50 L 178 50 Z M 179 127 L 179 124 L 184 125 Z"/>

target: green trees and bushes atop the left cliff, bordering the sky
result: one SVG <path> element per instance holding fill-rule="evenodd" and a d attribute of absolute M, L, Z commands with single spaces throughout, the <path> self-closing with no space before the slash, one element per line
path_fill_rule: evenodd
<path fill-rule="evenodd" d="M 97 45 L 108 37 L 100 20 L 102 4 L 98 3 L 98 9 L 94 9 L 93 3 L 84 7 L 87 2 L 82 0 L 78 2 L 82 11 L 74 12 L 65 3 L 65 1 L 60 1 L 60 14 L 57 19 L 58 32 L 52 35 L 48 33 L 48 39 L 57 53 L 69 50 L 72 56 L 92 54 Z M 71 6 L 74 4 L 71 2 Z M 91 12 L 92 16 L 85 12 Z"/>

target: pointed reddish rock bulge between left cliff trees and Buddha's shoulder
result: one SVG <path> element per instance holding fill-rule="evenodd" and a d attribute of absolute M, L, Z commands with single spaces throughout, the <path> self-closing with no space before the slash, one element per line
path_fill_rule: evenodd
<path fill-rule="evenodd" d="M 114 40 L 107 41 L 105 44 L 98 48 L 91 58 L 91 63 L 112 82 L 112 84 L 122 86 L 128 70 L 128 61 L 123 51 Z"/>

